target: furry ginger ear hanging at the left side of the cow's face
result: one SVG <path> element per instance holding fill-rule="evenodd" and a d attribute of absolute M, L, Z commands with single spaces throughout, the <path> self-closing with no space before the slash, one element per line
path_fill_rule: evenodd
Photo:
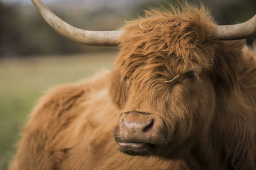
<path fill-rule="evenodd" d="M 114 69 L 111 72 L 109 81 L 109 96 L 119 109 L 124 107 L 127 99 L 127 86 L 124 81 L 124 77 L 122 77 L 122 74 L 118 69 Z"/>

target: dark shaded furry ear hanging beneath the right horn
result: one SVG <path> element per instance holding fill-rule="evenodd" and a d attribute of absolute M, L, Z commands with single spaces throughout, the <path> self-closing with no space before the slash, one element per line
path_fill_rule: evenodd
<path fill-rule="evenodd" d="M 238 85 L 239 67 L 243 58 L 244 41 L 219 41 L 212 68 L 212 83 L 230 92 Z"/>

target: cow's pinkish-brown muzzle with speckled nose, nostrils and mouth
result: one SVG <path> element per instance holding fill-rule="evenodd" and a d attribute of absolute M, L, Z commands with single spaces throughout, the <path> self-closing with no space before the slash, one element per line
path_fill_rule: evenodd
<path fill-rule="evenodd" d="M 129 155 L 152 155 L 166 141 L 163 120 L 154 114 L 123 113 L 115 131 L 118 149 Z"/>

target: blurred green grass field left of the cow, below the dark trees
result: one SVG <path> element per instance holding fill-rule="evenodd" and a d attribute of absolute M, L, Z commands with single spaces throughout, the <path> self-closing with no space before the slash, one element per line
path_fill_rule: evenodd
<path fill-rule="evenodd" d="M 115 52 L 0 60 L 0 169 L 15 153 L 20 129 L 39 97 L 51 87 L 113 66 Z"/>

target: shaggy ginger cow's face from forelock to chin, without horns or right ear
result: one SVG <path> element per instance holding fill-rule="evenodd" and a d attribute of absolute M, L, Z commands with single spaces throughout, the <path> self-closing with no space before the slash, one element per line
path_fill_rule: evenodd
<path fill-rule="evenodd" d="M 125 27 L 111 74 L 109 93 L 120 110 L 115 140 L 129 155 L 182 154 L 205 138 L 214 112 L 214 50 L 190 21 L 172 16 L 164 25 L 162 17 Z"/>

